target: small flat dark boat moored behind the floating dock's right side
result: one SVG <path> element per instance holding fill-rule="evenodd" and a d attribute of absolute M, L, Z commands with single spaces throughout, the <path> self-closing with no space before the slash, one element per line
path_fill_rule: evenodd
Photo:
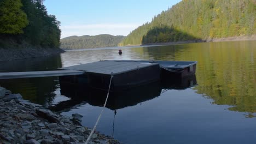
<path fill-rule="evenodd" d="M 114 60 L 109 60 L 114 61 Z M 133 61 L 118 60 L 118 62 L 141 62 L 158 63 L 161 68 L 161 79 L 181 79 L 194 75 L 196 72 L 196 61 Z"/>

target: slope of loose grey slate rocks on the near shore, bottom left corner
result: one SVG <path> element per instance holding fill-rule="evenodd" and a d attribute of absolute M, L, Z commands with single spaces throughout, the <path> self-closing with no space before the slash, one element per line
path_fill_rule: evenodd
<path fill-rule="evenodd" d="M 0 87 L 0 143 L 84 143 L 82 115 L 58 115 Z M 89 143 L 120 143 L 96 131 Z"/>

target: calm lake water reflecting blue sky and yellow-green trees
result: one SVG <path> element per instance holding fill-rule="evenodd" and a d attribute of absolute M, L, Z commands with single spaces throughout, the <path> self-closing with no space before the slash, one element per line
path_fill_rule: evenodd
<path fill-rule="evenodd" d="M 256 41 L 67 51 L 0 63 L 0 72 L 53 70 L 100 59 L 197 61 L 196 76 L 114 93 L 97 130 L 123 143 L 255 143 Z M 58 77 L 0 80 L 0 85 L 93 127 L 106 92 L 60 88 Z M 104 96 L 101 96 L 104 95 Z"/>

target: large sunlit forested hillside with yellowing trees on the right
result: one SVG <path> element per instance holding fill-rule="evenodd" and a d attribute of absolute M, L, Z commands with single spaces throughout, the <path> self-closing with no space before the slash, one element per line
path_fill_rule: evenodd
<path fill-rule="evenodd" d="M 183 0 L 132 31 L 119 46 L 255 33 L 255 0 Z"/>

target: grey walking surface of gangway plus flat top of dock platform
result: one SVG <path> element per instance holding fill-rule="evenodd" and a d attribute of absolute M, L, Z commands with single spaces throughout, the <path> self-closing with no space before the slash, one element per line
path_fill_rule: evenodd
<path fill-rule="evenodd" d="M 46 77 L 46 76 L 68 76 L 68 75 L 119 75 L 129 71 L 143 69 L 158 65 L 156 63 L 142 62 L 122 62 L 122 61 L 99 61 L 71 67 L 60 68 L 52 71 L 23 71 L 0 73 L 0 79 L 18 79 L 27 77 Z M 146 72 L 146 71 L 145 71 Z"/>

